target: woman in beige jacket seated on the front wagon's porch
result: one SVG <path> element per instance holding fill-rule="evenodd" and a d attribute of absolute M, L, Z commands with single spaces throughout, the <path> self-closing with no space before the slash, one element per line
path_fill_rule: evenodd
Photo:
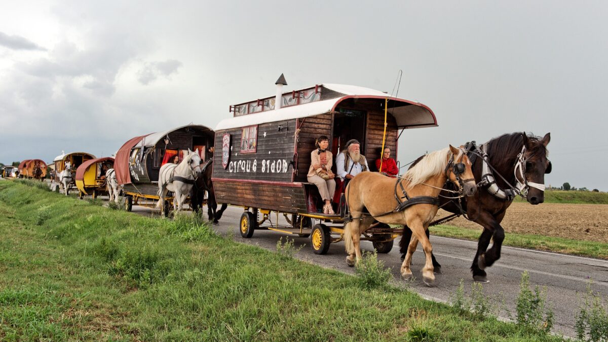
<path fill-rule="evenodd" d="M 323 214 L 334 215 L 334 210 L 331 208 L 331 199 L 334 198 L 336 192 L 336 181 L 331 166 L 333 164 L 333 155 L 327 150 L 330 145 L 330 139 L 322 135 L 317 138 L 314 143 L 316 150 L 310 153 L 310 169 L 308 169 L 308 181 L 314 183 L 319 188 L 319 194 L 325 201 L 323 206 Z M 326 180 L 322 178 L 324 175 Z"/>

